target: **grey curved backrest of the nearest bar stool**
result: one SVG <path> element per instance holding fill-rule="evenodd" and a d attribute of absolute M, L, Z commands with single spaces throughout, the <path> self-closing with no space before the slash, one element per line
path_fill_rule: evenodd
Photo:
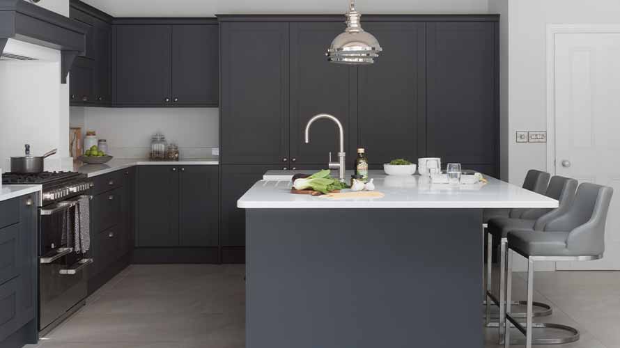
<path fill-rule="evenodd" d="M 605 251 L 605 222 L 614 189 L 584 182 L 566 214 L 550 221 L 545 231 L 569 232 L 568 250 L 580 255 L 600 255 Z"/>

